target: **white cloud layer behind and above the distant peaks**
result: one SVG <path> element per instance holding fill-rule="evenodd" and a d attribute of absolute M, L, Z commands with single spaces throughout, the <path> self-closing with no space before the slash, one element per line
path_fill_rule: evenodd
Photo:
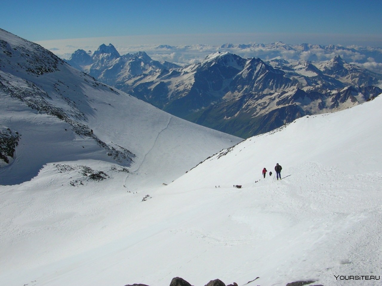
<path fill-rule="evenodd" d="M 72 45 L 68 45 L 68 41 L 45 41 L 41 42 L 45 48 L 62 59 L 70 59 L 71 54 L 78 49 L 86 51 L 95 51 L 102 42 L 101 39 L 92 39 L 92 41 L 80 39 L 72 41 Z M 129 41 L 121 41 L 118 37 L 107 39 L 117 48 L 120 54 L 134 54 L 139 51 L 146 52 L 152 59 L 160 62 L 167 61 L 178 63 L 180 65 L 188 65 L 190 63 L 201 62 L 207 55 L 215 52 L 228 51 L 232 54 L 239 55 L 244 58 L 259 57 L 262 60 L 270 60 L 274 58 L 283 58 L 288 62 L 298 62 L 310 60 L 320 62 L 330 60 L 335 55 L 340 55 L 346 62 L 354 63 L 360 67 L 367 68 L 372 72 L 382 73 L 382 48 L 381 47 L 365 47 L 361 45 L 340 46 L 340 45 L 320 45 L 319 43 L 309 44 L 288 44 L 282 42 L 274 42 L 270 44 L 259 43 L 242 43 L 242 44 L 191 44 L 191 45 L 168 45 L 162 44 L 129 44 Z M 113 41 L 114 40 L 114 41 Z M 105 42 L 104 44 L 108 44 Z"/>

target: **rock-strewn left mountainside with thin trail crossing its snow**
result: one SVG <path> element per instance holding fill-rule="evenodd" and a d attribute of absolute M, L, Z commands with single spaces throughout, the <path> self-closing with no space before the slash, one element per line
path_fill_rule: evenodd
<path fill-rule="evenodd" d="M 241 141 L 101 84 L 4 30 L 0 51 L 0 127 L 18 134 L 9 164 L 1 164 L 0 184 L 30 180 L 47 163 L 82 159 L 127 167 L 125 177 L 130 172 L 150 177 L 150 184 L 168 184 Z M 134 188 L 133 178 L 126 187 Z"/>

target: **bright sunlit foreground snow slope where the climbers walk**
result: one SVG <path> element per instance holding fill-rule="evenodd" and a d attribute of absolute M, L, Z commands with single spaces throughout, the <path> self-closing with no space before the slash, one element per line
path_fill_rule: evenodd
<path fill-rule="evenodd" d="M 379 96 L 303 117 L 207 159 L 167 186 L 152 187 L 156 179 L 142 174 L 142 164 L 141 175 L 128 175 L 140 178 L 133 192 L 121 187 L 126 174 L 110 173 L 109 163 L 45 164 L 30 182 L 0 186 L 0 281 L 167 286 L 180 276 L 196 286 L 216 278 L 244 285 L 257 277 L 249 285 L 379 285 L 381 108 Z M 155 136 L 170 132 L 166 126 Z M 173 132 L 172 141 L 183 135 Z M 160 146 L 143 161 L 170 152 Z M 283 179 L 263 179 L 263 167 L 274 172 L 277 162 Z M 110 179 L 74 181 L 81 164 Z M 362 280 L 341 280 L 351 277 Z"/>

